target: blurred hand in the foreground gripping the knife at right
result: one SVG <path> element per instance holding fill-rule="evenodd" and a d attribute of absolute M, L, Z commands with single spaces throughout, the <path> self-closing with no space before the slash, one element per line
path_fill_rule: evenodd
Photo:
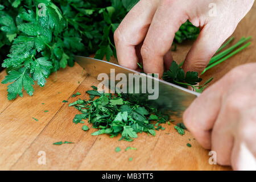
<path fill-rule="evenodd" d="M 216 151 L 218 164 L 256 170 L 256 63 L 234 68 L 210 86 L 183 120 L 204 148 Z"/>

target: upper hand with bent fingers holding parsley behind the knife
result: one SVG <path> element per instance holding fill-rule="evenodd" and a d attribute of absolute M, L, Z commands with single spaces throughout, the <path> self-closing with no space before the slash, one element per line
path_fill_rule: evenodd
<path fill-rule="evenodd" d="M 202 72 L 221 44 L 251 9 L 254 0 L 141 0 L 126 15 L 114 33 L 120 65 L 137 69 L 143 61 L 146 73 L 159 73 L 172 62 L 171 45 L 175 32 L 187 19 L 201 28 L 188 52 L 184 71 Z M 217 14 L 209 16 L 209 4 Z"/>

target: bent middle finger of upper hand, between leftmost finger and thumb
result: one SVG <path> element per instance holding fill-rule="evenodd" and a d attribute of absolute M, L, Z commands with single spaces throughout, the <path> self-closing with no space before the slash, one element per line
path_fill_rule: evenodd
<path fill-rule="evenodd" d="M 161 1 L 142 46 L 143 68 L 146 73 L 163 75 L 163 57 L 170 50 L 175 32 L 187 20 L 177 1 Z"/>

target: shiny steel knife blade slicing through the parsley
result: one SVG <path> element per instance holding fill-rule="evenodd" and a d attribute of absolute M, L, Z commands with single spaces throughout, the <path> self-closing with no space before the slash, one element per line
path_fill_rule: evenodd
<path fill-rule="evenodd" d="M 141 73 L 134 71 L 129 68 L 122 67 L 108 61 L 97 60 L 90 57 L 75 56 L 75 61 L 84 68 L 84 71 L 87 72 L 90 76 L 98 78 L 98 75 L 101 73 L 106 73 L 111 78 L 111 69 L 115 71 L 115 74 L 124 73 L 129 76 L 129 73 L 139 74 Z M 146 76 L 147 80 L 158 81 L 158 91 L 159 96 L 156 100 L 148 100 L 148 93 L 129 93 L 129 97 L 138 100 L 144 105 L 155 107 L 156 109 L 162 111 L 162 113 L 170 115 L 170 117 L 175 119 L 175 123 L 182 122 L 182 114 L 185 109 L 195 100 L 200 93 L 193 92 L 192 90 L 185 89 L 181 86 L 171 84 L 169 82 L 159 80 L 158 78 Z M 113 78 L 112 78 L 113 79 Z M 115 79 L 115 78 L 114 78 Z M 129 79 L 126 80 L 126 85 L 129 85 Z M 106 81 L 110 88 L 110 79 Z M 115 84 L 118 81 L 115 80 Z M 142 88 L 142 83 L 139 84 Z M 112 89 L 115 88 L 112 86 Z M 110 88 L 111 89 L 111 88 Z"/>

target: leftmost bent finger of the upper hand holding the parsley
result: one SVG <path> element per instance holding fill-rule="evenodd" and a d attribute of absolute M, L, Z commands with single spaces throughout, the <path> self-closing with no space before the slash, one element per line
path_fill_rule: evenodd
<path fill-rule="evenodd" d="M 135 46 L 145 38 L 157 6 L 158 1 L 155 0 L 139 1 L 114 32 L 118 62 L 123 67 L 137 68 Z"/>

